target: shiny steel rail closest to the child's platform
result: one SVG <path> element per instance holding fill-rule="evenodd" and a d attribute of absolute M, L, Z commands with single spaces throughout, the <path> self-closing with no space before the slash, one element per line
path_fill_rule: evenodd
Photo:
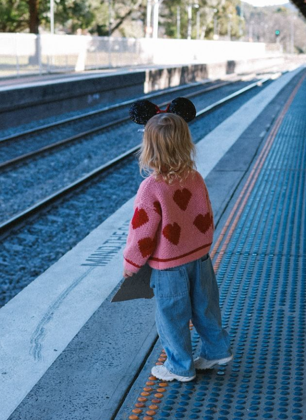
<path fill-rule="evenodd" d="M 221 105 L 223 105 L 223 104 L 231 101 L 232 99 L 238 97 L 239 95 L 242 95 L 247 90 L 250 90 L 250 89 L 252 89 L 256 86 L 262 85 L 263 83 L 267 82 L 268 80 L 270 80 L 270 77 L 258 80 L 257 82 L 251 83 L 250 85 L 248 85 L 248 86 L 246 86 L 242 89 L 239 89 L 234 94 L 231 94 L 231 95 L 227 96 L 226 98 L 224 98 L 223 100 L 217 101 L 215 104 L 212 104 L 212 105 L 204 108 L 203 110 L 199 111 L 197 113 L 197 117 L 200 116 L 200 115 L 211 112 L 213 109 L 216 109 L 216 108 L 220 107 Z M 55 202 L 56 200 L 59 200 L 60 198 L 62 198 L 66 194 L 68 194 L 68 193 L 72 192 L 73 190 L 75 190 L 76 188 L 78 188 L 80 185 L 82 185 L 85 182 L 93 179 L 94 177 L 96 177 L 100 173 L 104 172 L 106 169 L 109 169 L 110 167 L 112 167 L 116 163 L 124 160 L 128 156 L 131 156 L 133 153 L 137 152 L 140 149 L 140 147 L 141 147 L 141 145 L 138 145 L 138 146 L 135 146 L 132 149 L 129 149 L 128 151 L 126 151 L 126 152 L 122 153 L 121 155 L 117 156 L 116 158 L 108 161 L 107 163 L 99 166 L 98 168 L 94 169 L 90 173 L 88 173 L 88 174 L 82 176 L 81 178 L 77 179 L 73 183 L 65 186 L 64 188 L 57 191 L 56 193 L 54 193 L 54 194 L 46 197 L 45 199 L 35 203 L 33 206 L 31 206 L 28 209 L 22 211 L 21 213 L 18 213 L 17 215 L 13 216 L 12 218 L 7 220 L 6 222 L 0 224 L 0 236 L 3 236 L 11 228 L 20 224 L 22 221 L 26 220 L 27 218 L 29 218 L 33 214 L 37 213 L 42 208 L 45 208 L 48 205 Z"/>

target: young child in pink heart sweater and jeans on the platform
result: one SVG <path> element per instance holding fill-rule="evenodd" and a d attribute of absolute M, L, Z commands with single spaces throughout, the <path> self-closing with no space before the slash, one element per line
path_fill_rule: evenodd
<path fill-rule="evenodd" d="M 139 159 L 149 176 L 139 187 L 123 252 L 124 277 L 146 263 L 152 267 L 156 328 L 167 355 L 152 375 L 164 381 L 191 381 L 195 369 L 233 358 L 208 254 L 213 215 L 194 152 L 188 125 L 179 115 L 166 112 L 149 119 Z M 195 359 L 190 319 L 202 342 Z"/>

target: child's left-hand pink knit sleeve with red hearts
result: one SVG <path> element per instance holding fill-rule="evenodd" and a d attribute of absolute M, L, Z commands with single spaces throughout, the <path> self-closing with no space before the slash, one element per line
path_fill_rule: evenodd
<path fill-rule="evenodd" d="M 161 220 L 159 202 L 152 197 L 136 197 L 134 216 L 129 223 L 123 267 L 136 273 L 145 265 L 156 246 L 156 232 Z"/>

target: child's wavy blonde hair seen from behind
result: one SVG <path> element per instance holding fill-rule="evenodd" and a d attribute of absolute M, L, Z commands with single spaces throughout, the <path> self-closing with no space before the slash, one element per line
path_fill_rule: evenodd
<path fill-rule="evenodd" d="M 162 113 L 149 119 L 138 155 L 141 174 L 162 177 L 169 184 L 184 180 L 196 169 L 189 127 L 177 114 Z"/>

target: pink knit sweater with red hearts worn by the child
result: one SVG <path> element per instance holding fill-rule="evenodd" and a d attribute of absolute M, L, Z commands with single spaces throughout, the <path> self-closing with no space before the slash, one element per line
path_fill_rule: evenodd
<path fill-rule="evenodd" d="M 136 273 L 146 262 L 157 269 L 175 267 L 207 254 L 213 237 L 213 215 L 199 172 L 181 184 L 152 175 L 139 186 L 130 221 L 124 268 Z"/>

